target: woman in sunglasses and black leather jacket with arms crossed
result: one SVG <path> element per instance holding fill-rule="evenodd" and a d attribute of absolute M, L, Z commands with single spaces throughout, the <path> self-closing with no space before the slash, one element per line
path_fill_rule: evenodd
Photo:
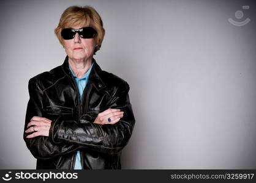
<path fill-rule="evenodd" d="M 64 63 L 29 80 L 24 141 L 37 169 L 120 169 L 135 119 L 127 82 L 93 59 L 102 20 L 92 7 L 72 6 L 55 34 Z"/>

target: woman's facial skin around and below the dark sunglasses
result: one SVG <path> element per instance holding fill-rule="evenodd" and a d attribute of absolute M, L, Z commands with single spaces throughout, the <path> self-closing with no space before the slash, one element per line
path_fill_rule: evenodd
<path fill-rule="evenodd" d="M 80 29 L 83 26 L 73 26 L 72 29 Z M 91 59 L 94 53 L 96 41 L 94 38 L 81 38 L 78 33 L 71 40 L 63 40 L 63 45 L 69 59 Z"/>

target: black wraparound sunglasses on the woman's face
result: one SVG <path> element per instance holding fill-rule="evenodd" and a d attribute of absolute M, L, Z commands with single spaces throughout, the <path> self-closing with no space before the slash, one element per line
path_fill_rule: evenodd
<path fill-rule="evenodd" d="M 61 36 L 64 40 L 71 40 L 75 37 L 76 33 L 78 33 L 81 38 L 93 38 L 97 34 L 97 31 L 92 27 L 83 27 L 80 29 L 66 28 L 61 31 Z"/>

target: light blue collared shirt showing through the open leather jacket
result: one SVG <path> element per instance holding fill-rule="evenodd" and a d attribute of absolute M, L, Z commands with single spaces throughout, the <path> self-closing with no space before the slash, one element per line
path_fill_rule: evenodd
<path fill-rule="evenodd" d="M 92 63 L 92 65 L 93 64 L 94 63 Z M 83 77 L 81 77 L 81 79 L 79 79 L 75 75 L 75 73 L 73 73 L 72 69 L 69 66 L 69 69 L 70 69 L 73 77 L 75 77 L 75 82 L 77 83 L 77 88 L 78 88 L 78 91 L 79 91 L 80 99 L 81 99 L 81 97 L 83 95 L 83 90 L 85 90 L 86 84 L 88 84 L 89 74 L 91 73 L 92 65 L 89 68 L 89 70 L 85 73 L 85 75 L 83 75 Z M 82 167 L 81 167 L 81 159 L 80 159 L 80 151 L 77 151 L 77 157 L 75 159 L 75 168 L 74 169 L 75 170 L 81 170 L 82 169 Z"/>

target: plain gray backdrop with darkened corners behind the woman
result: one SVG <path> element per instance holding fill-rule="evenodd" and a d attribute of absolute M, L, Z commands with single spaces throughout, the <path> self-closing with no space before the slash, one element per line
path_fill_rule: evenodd
<path fill-rule="evenodd" d="M 22 138 L 28 80 L 64 61 L 53 30 L 70 5 L 100 13 L 95 59 L 130 84 L 122 168 L 256 168 L 255 2 L 220 0 L 0 1 L 0 168 L 36 167 Z M 228 22 L 236 10 L 249 24 Z"/>

